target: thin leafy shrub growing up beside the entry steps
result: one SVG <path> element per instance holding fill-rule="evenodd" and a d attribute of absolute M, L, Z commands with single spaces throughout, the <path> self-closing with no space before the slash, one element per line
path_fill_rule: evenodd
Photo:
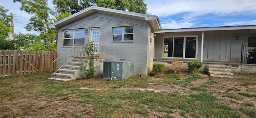
<path fill-rule="evenodd" d="M 95 72 L 98 70 L 100 66 L 94 66 L 93 58 L 95 53 L 97 52 L 97 46 L 93 41 L 88 40 L 86 45 L 83 47 L 84 52 L 86 53 L 87 59 L 85 61 L 84 67 L 84 74 L 86 78 L 92 78 L 95 75 Z"/>

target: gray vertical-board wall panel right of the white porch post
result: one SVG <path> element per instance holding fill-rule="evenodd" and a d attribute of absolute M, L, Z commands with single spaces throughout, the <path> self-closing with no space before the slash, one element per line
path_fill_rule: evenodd
<path fill-rule="evenodd" d="M 231 35 L 204 35 L 204 60 L 229 61 Z"/>

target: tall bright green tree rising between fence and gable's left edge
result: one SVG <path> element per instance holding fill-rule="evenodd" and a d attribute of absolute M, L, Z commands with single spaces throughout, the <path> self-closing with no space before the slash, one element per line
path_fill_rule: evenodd
<path fill-rule="evenodd" d="M 56 20 L 50 18 L 54 12 L 47 6 L 47 0 L 13 0 L 13 2 L 20 2 L 20 10 L 33 15 L 25 27 L 26 30 L 40 32 L 44 47 L 47 50 L 56 50 L 57 31 L 48 27 Z"/>

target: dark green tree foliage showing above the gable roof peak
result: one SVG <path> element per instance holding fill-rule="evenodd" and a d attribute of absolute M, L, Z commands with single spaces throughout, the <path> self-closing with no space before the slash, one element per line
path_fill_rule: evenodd
<path fill-rule="evenodd" d="M 53 0 L 57 12 L 81 11 L 90 6 L 100 6 L 146 14 L 147 4 L 144 0 Z"/>

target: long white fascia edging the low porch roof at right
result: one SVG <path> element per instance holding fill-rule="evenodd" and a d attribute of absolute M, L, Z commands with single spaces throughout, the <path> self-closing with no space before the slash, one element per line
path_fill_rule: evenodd
<path fill-rule="evenodd" d="M 170 29 L 170 30 L 158 30 L 158 31 L 155 31 L 154 33 L 186 32 L 186 31 L 252 30 L 252 29 L 256 29 L 256 25 Z"/>

